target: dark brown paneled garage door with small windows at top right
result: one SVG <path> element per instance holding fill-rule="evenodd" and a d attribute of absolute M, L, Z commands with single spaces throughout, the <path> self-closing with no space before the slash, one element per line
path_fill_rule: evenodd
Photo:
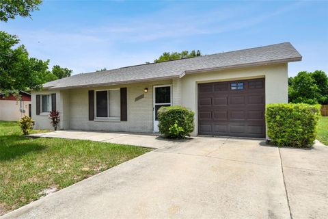
<path fill-rule="evenodd" d="M 265 137 L 264 79 L 198 84 L 198 133 Z"/>

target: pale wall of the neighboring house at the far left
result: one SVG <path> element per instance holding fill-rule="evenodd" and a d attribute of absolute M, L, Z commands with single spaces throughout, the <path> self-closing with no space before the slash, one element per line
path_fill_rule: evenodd
<path fill-rule="evenodd" d="M 23 116 L 29 116 L 29 104 L 31 101 L 22 101 L 25 113 L 20 112 L 20 101 L 0 99 L 0 120 L 19 120 Z"/>

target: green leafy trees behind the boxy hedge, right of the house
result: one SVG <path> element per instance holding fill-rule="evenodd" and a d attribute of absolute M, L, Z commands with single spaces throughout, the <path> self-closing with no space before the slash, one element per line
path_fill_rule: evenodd
<path fill-rule="evenodd" d="M 291 103 L 328 104 L 328 78 L 322 70 L 301 71 L 288 79 L 288 99 Z"/>

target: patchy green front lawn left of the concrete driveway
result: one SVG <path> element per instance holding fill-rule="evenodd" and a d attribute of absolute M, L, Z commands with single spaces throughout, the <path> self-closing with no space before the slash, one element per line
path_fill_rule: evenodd
<path fill-rule="evenodd" d="M 60 190 L 148 151 L 88 140 L 27 138 L 17 123 L 0 121 L 0 215 L 37 200 L 46 189 Z"/>

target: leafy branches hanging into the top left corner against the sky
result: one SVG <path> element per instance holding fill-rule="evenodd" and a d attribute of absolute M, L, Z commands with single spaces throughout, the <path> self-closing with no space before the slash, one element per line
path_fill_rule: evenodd
<path fill-rule="evenodd" d="M 15 16 L 31 16 L 31 12 L 39 10 L 38 5 L 42 0 L 1 0 L 0 1 L 0 21 L 7 22 Z"/>

